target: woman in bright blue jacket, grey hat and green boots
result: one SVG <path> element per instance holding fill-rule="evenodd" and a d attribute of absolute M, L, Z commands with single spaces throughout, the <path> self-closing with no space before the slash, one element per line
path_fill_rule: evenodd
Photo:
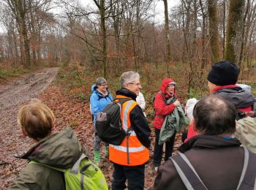
<path fill-rule="evenodd" d="M 102 111 L 105 106 L 113 100 L 113 97 L 108 91 L 107 80 L 103 77 L 99 77 L 96 80 L 96 85 L 91 86 L 91 91 L 93 93 L 90 97 L 91 104 L 91 112 L 94 115 L 94 162 L 99 165 L 100 163 L 100 155 L 99 155 L 99 147 L 100 147 L 100 138 L 97 135 L 95 130 L 95 118 L 97 118 L 97 114 Z M 105 145 L 105 155 L 108 156 L 108 144 Z"/>

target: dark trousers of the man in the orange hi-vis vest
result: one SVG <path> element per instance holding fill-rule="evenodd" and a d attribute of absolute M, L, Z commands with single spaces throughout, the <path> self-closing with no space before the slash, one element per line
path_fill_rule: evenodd
<path fill-rule="evenodd" d="M 119 164 L 114 165 L 112 189 L 126 189 L 125 182 L 128 180 L 128 189 L 143 189 L 145 164 L 140 166 L 123 166 Z"/>

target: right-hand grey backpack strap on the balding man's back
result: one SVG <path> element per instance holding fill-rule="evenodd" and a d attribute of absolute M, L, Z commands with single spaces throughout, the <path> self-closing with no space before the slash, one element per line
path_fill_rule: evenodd
<path fill-rule="evenodd" d="M 241 147 L 244 148 L 244 167 L 237 190 L 256 189 L 256 156 L 255 154 L 249 152 L 244 145 L 241 145 Z"/>

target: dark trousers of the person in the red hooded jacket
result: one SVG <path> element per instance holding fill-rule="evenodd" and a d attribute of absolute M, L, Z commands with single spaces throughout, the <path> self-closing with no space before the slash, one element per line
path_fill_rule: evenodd
<path fill-rule="evenodd" d="M 154 144 L 154 167 L 159 167 L 162 161 L 162 145 L 158 145 L 160 129 L 155 128 L 154 132 L 156 134 L 156 141 Z M 165 161 L 172 156 L 173 145 L 175 140 L 176 132 L 174 132 L 173 137 L 170 137 L 170 140 L 165 142 Z"/>

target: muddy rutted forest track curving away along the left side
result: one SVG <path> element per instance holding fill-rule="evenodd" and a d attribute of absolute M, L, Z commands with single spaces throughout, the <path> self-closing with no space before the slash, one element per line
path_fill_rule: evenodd
<path fill-rule="evenodd" d="M 7 184 L 26 164 L 26 161 L 17 161 L 14 153 L 27 151 L 31 145 L 20 135 L 16 119 L 18 109 L 41 94 L 55 79 L 58 70 L 58 67 L 45 68 L 0 86 L 0 189 L 7 189 Z"/>

